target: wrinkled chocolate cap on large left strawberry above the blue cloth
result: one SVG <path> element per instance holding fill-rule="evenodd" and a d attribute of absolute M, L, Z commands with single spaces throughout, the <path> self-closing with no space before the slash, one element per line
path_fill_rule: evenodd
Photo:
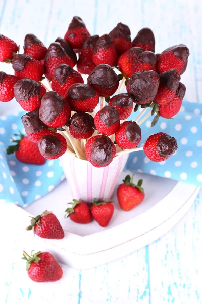
<path fill-rule="evenodd" d="M 35 80 L 24 78 L 18 80 L 14 85 L 14 95 L 16 100 L 29 100 L 31 97 L 40 94 L 40 84 Z"/>

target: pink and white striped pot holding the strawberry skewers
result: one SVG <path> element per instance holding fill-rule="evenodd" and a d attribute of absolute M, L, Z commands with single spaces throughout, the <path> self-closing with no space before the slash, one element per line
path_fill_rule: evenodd
<path fill-rule="evenodd" d="M 88 161 L 65 153 L 61 157 L 61 162 L 72 198 L 82 199 L 88 203 L 92 203 L 94 198 L 110 199 L 128 156 L 129 153 L 116 156 L 108 167 L 96 168 Z"/>

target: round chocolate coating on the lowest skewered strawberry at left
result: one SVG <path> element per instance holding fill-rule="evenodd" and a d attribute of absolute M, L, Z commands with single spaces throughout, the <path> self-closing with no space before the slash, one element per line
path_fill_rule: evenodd
<path fill-rule="evenodd" d="M 57 155 L 62 147 L 61 141 L 54 135 L 44 135 L 38 143 L 39 151 L 44 156 Z"/>

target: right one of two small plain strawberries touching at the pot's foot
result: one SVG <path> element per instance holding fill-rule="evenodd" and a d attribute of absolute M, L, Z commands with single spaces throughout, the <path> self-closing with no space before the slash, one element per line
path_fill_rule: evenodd
<path fill-rule="evenodd" d="M 104 202 L 99 202 L 94 200 L 91 214 L 101 227 L 106 227 L 109 224 L 113 213 L 114 205 L 111 201 L 105 200 Z"/>

